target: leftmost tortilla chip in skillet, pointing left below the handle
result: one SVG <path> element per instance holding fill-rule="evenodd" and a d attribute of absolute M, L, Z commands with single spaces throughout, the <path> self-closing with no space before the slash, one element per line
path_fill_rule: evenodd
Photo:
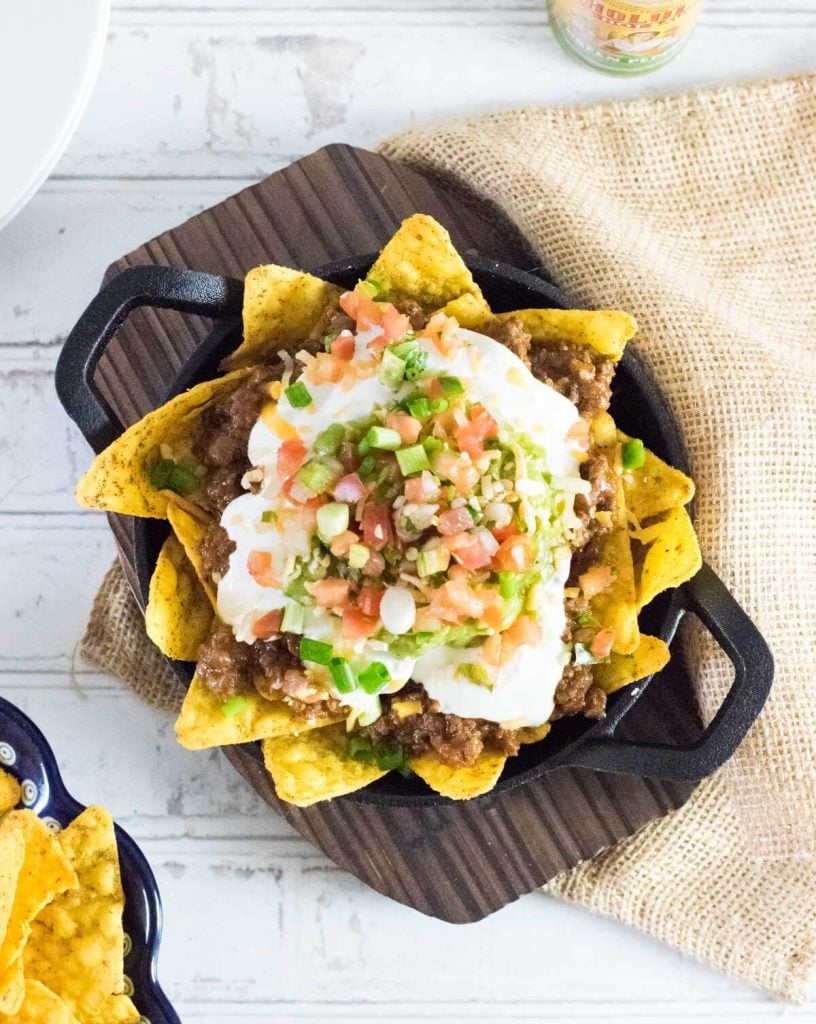
<path fill-rule="evenodd" d="M 77 484 L 76 499 L 83 508 L 121 512 L 124 515 L 167 518 L 167 504 L 175 496 L 156 490 L 149 479 L 159 445 L 167 444 L 174 455 L 188 454 L 196 424 L 215 399 L 233 391 L 249 373 L 239 370 L 214 381 L 204 381 L 176 395 L 134 423 L 93 460 Z"/>

